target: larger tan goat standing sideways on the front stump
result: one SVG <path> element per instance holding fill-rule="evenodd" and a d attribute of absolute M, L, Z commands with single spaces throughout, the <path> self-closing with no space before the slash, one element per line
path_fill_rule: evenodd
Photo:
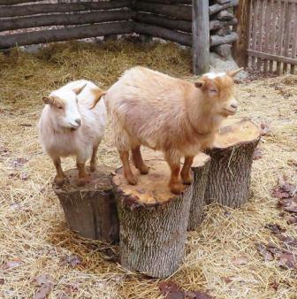
<path fill-rule="evenodd" d="M 104 100 L 129 184 L 137 183 L 129 165 L 130 149 L 135 167 L 142 174 L 148 173 L 141 145 L 164 152 L 171 168 L 169 187 L 173 193 L 183 190 L 179 180 L 181 157 L 185 157 L 182 182 L 192 182 L 193 157 L 211 147 L 221 121 L 237 111 L 232 77 L 238 72 L 206 73 L 191 83 L 137 66 L 110 87 Z"/>

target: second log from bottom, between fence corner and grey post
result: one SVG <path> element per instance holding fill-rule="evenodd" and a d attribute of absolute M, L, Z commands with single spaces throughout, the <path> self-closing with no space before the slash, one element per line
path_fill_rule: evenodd
<path fill-rule="evenodd" d="M 173 19 L 146 12 L 136 12 L 136 14 L 133 16 L 133 19 L 140 23 L 152 24 L 189 33 L 192 32 L 192 22 L 188 20 Z"/>

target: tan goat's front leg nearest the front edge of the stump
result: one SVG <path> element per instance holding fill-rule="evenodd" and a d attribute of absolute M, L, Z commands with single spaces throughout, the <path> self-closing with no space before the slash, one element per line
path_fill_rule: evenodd
<path fill-rule="evenodd" d="M 169 188 L 174 194 L 180 194 L 184 191 L 184 186 L 181 184 L 179 179 L 179 170 L 180 170 L 180 156 L 171 155 L 170 153 L 165 152 L 164 157 L 171 168 L 171 179 L 169 181 Z"/>

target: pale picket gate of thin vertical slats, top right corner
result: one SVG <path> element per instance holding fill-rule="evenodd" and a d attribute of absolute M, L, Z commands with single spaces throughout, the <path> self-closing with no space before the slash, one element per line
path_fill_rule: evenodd
<path fill-rule="evenodd" d="M 251 0 L 249 9 L 249 67 L 297 73 L 297 0 Z"/>

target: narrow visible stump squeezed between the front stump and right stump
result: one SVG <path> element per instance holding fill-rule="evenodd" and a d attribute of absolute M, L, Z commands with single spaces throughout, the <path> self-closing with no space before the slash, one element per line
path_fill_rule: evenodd
<path fill-rule="evenodd" d="M 190 208 L 190 215 L 187 225 L 187 230 L 195 230 L 202 224 L 204 218 L 204 194 L 206 184 L 208 182 L 210 157 L 200 153 L 194 157 L 192 172 L 193 172 L 193 183 L 192 183 L 192 202 Z"/>

